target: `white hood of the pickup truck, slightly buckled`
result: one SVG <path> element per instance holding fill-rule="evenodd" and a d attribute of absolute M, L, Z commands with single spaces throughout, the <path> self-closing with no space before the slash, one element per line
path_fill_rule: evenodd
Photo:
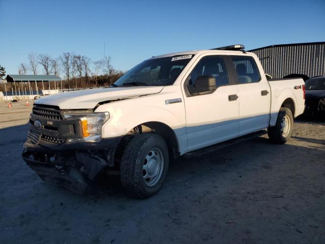
<path fill-rule="evenodd" d="M 60 109 L 89 109 L 98 103 L 160 93 L 164 86 L 109 87 L 64 92 L 38 99 L 35 104 L 58 106 Z"/>

